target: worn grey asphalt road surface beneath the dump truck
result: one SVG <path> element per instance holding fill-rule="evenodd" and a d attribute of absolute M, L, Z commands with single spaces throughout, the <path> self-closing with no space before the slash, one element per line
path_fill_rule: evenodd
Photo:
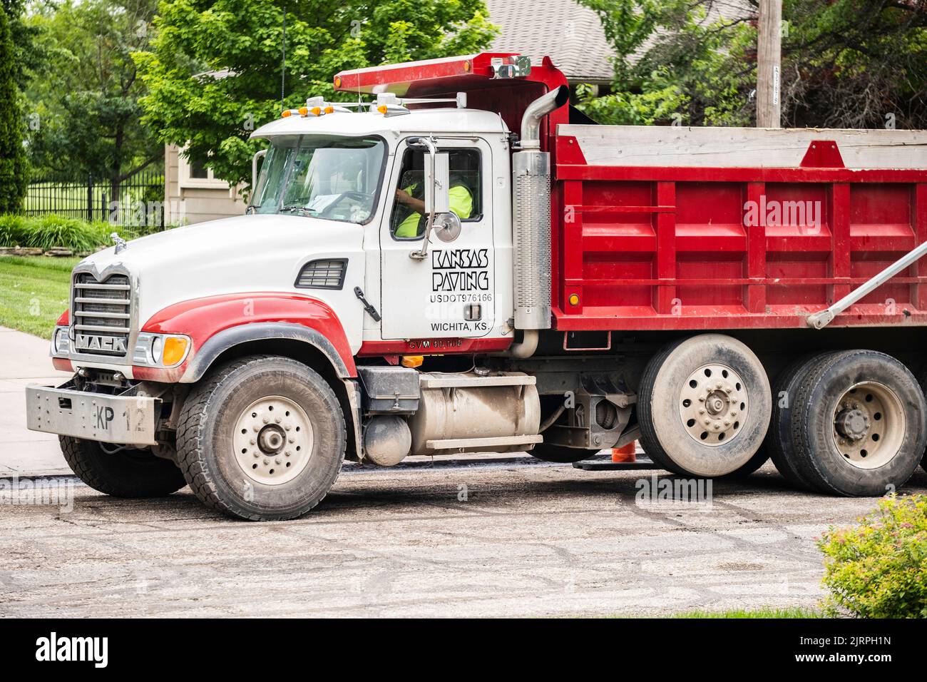
<path fill-rule="evenodd" d="M 346 470 L 309 516 L 278 523 L 224 519 L 186 488 L 130 501 L 62 478 L 42 505 L 0 489 L 0 501 L 17 502 L 0 505 L 0 615 L 813 607 L 823 594 L 814 538 L 875 506 L 794 492 L 769 464 L 746 483 L 714 483 L 700 502 L 638 499 L 652 473 L 512 462 Z M 927 492 L 927 474 L 902 492 Z"/>

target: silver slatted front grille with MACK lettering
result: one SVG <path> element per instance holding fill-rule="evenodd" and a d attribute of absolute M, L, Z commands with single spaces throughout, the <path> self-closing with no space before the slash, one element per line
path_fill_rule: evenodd
<path fill-rule="evenodd" d="M 129 347 L 132 296 L 127 275 L 98 281 L 91 273 L 74 277 L 74 350 L 124 356 Z"/>

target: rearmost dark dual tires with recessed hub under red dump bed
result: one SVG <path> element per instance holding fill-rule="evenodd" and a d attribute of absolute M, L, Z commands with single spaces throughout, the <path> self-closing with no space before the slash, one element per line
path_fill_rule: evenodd
<path fill-rule="evenodd" d="M 823 354 L 798 383 L 793 463 L 818 490 L 876 496 L 908 481 L 927 441 L 927 403 L 894 357 L 875 351 Z"/>

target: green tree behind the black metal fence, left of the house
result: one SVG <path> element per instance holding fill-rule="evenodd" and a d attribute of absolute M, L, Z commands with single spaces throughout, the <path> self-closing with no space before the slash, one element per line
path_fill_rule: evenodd
<path fill-rule="evenodd" d="M 157 0 L 64 0 L 38 8 L 31 23 L 40 30 L 46 62 L 27 90 L 33 166 L 93 174 L 118 199 L 124 180 L 163 159 L 142 122 L 138 99 L 145 88 L 131 57 L 147 47 L 157 6 Z"/>

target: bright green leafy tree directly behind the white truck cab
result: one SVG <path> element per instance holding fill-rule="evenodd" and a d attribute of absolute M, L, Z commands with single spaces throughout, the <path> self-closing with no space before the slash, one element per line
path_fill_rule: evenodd
<path fill-rule="evenodd" d="M 337 71 L 468 54 L 495 31 L 482 0 L 164 0 L 159 11 L 153 49 L 135 55 L 146 122 L 233 185 L 250 180 L 255 127 L 307 97 L 350 97 L 335 93 Z"/>

